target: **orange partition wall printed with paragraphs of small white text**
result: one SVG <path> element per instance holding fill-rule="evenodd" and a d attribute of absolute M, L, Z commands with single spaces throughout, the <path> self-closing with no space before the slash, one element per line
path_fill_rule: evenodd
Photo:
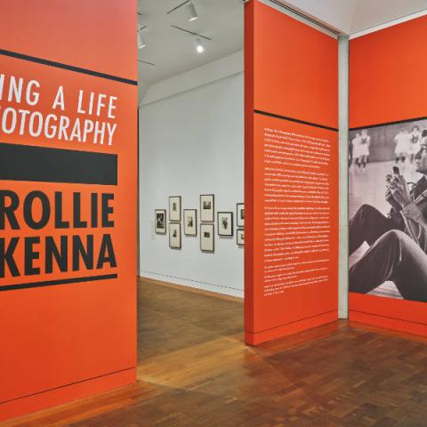
<path fill-rule="evenodd" d="M 338 46 L 246 4 L 245 325 L 258 344 L 337 318 Z"/>

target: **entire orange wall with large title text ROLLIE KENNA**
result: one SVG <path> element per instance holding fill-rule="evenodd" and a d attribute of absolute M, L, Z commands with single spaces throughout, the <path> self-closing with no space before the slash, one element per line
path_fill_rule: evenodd
<path fill-rule="evenodd" d="M 136 1 L 3 2 L 0 421 L 136 381 Z"/>

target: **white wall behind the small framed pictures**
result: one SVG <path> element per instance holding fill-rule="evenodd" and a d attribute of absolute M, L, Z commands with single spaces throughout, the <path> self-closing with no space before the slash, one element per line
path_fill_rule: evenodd
<path fill-rule="evenodd" d="M 214 253 L 202 253 L 199 196 L 214 194 Z M 155 233 L 154 210 L 169 196 L 197 209 L 197 237 L 181 249 Z M 236 243 L 236 204 L 244 201 L 243 52 L 150 86 L 140 107 L 140 274 L 243 296 L 243 247 Z M 217 234 L 216 212 L 233 212 L 232 238 Z M 167 216 L 167 231 L 169 217 Z"/>

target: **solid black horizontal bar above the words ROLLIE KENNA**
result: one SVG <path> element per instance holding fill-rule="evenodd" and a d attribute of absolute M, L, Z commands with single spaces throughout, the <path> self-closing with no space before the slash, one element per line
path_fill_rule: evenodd
<path fill-rule="evenodd" d="M 117 155 L 0 142 L 0 180 L 117 185 Z"/>

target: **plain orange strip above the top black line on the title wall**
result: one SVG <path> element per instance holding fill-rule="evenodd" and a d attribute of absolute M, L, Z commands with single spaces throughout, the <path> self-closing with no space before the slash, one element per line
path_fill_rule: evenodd
<path fill-rule="evenodd" d="M 0 49 L 136 80 L 136 1 L 2 2 Z"/>

